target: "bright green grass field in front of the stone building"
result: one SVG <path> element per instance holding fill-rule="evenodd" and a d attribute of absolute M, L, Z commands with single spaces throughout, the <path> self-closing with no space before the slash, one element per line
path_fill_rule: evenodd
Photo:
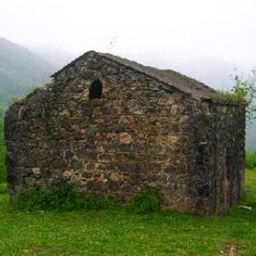
<path fill-rule="evenodd" d="M 122 210 L 13 211 L 0 186 L 1 256 L 256 255 L 256 170 L 247 194 L 227 216 L 170 211 L 135 215 Z"/>

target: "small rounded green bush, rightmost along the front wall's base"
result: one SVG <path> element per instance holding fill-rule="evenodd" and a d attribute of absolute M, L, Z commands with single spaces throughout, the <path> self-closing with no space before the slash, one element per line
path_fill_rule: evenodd
<path fill-rule="evenodd" d="M 126 209 L 137 214 L 148 214 L 160 210 L 160 190 L 147 187 L 128 199 Z"/>

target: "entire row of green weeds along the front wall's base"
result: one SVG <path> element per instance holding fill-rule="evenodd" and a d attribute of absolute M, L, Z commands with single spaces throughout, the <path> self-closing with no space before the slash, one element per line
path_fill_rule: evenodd
<path fill-rule="evenodd" d="M 99 210 L 123 207 L 129 212 L 147 214 L 160 209 L 160 192 L 155 188 L 145 188 L 121 204 L 113 195 L 102 195 L 95 191 L 79 193 L 73 184 L 51 186 L 46 189 L 32 187 L 20 189 L 13 198 L 16 209 L 35 212 L 38 210 L 73 211 L 79 209 Z"/>

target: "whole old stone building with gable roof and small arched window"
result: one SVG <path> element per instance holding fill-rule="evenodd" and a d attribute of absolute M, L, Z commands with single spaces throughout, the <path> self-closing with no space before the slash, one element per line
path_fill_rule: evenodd
<path fill-rule="evenodd" d="M 244 105 L 172 70 L 86 52 L 5 117 L 8 183 L 58 180 L 127 198 L 159 186 L 163 205 L 223 214 L 244 190 Z"/>

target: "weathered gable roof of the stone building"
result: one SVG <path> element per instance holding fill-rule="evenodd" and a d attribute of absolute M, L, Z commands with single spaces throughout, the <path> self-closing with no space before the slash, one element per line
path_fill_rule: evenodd
<path fill-rule="evenodd" d="M 101 53 L 101 52 L 95 52 L 95 51 L 85 52 L 79 58 L 76 58 L 74 61 L 70 62 L 70 64 L 67 64 L 61 70 L 54 73 L 51 77 L 55 78 L 63 70 L 66 70 L 68 67 L 73 66 L 77 61 L 81 60 L 88 54 L 93 54 L 102 58 L 107 58 L 108 60 L 114 61 L 117 64 L 136 70 L 137 72 L 143 73 L 146 76 L 149 76 L 153 79 L 157 79 L 158 81 L 165 83 L 169 87 L 175 87 L 177 90 L 187 93 L 196 99 L 198 98 L 209 99 L 210 98 L 209 94 L 215 92 L 215 90 L 213 90 L 211 87 L 207 86 L 206 84 L 201 83 L 188 76 L 182 75 L 176 71 L 159 70 L 154 67 L 143 66 L 142 64 L 139 64 L 135 61 L 130 61 L 125 58 L 120 58 L 118 56 L 115 56 L 109 53 Z"/>

